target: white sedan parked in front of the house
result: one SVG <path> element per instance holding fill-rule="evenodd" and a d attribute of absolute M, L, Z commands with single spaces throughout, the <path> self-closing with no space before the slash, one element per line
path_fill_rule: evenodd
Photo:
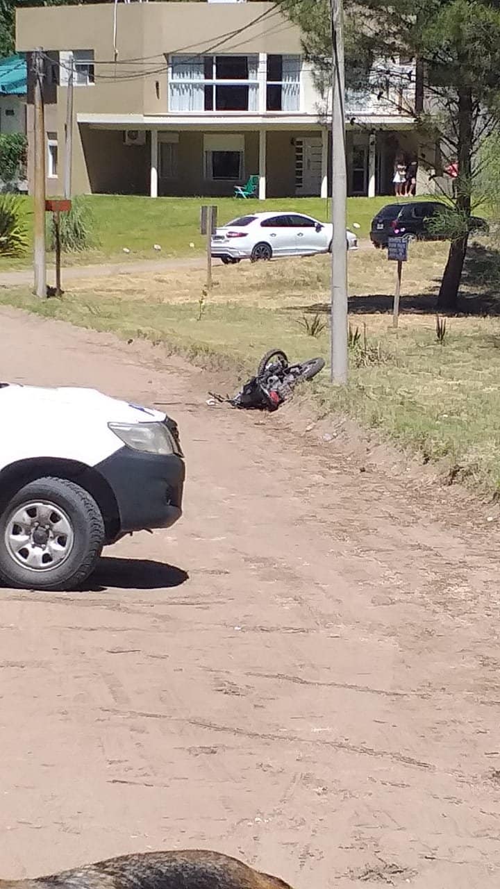
<path fill-rule="evenodd" d="M 348 250 L 358 238 L 346 231 Z M 248 213 L 216 228 L 212 256 L 226 265 L 240 260 L 271 260 L 279 256 L 310 256 L 332 249 L 332 224 L 295 212 Z"/>

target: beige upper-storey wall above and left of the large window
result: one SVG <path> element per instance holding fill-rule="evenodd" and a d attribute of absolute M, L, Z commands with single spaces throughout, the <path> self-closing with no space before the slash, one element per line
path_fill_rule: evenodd
<path fill-rule="evenodd" d="M 269 12 L 269 19 L 251 22 Z M 224 40 L 221 52 L 301 52 L 298 28 L 290 25 L 270 3 L 117 4 L 117 67 L 113 46 L 114 4 L 44 6 L 16 11 L 19 52 L 42 47 L 56 50 L 93 49 L 96 83 L 75 88 L 75 111 L 114 114 L 167 113 L 166 55 L 208 52 L 232 30 L 242 33 Z M 137 66 L 127 60 L 148 57 Z M 101 64 L 99 64 L 101 62 Z M 108 63 L 108 64 L 106 64 Z M 114 80 L 119 76 L 145 77 Z M 106 78 L 110 77 L 108 81 Z M 66 102 L 66 88 L 58 90 L 58 104 Z"/>

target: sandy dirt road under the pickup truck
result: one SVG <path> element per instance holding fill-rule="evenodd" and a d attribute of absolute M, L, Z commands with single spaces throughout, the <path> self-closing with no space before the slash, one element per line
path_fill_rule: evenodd
<path fill-rule="evenodd" d="M 0 592 L 0 875 L 202 846 L 296 889 L 497 887 L 495 522 L 147 345 L 0 323 L 2 378 L 169 403 L 189 477 L 88 591 Z"/>

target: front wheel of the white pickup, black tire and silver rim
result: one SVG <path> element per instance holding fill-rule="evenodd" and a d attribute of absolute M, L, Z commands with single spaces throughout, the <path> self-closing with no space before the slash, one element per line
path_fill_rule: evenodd
<path fill-rule="evenodd" d="M 0 515 L 0 580 L 16 589 L 75 589 L 101 556 L 101 510 L 66 478 L 39 478 Z"/>

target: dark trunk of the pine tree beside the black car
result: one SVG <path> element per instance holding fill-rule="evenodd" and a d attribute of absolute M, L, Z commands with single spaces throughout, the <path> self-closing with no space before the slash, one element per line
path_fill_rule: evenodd
<path fill-rule="evenodd" d="M 464 236 L 452 241 L 449 246 L 448 261 L 438 296 L 439 312 L 456 312 L 458 308 L 458 288 L 464 268 L 471 219 L 472 135 L 472 90 L 468 86 L 460 87 L 458 89 L 458 176 L 455 204 L 456 210 L 464 218 L 467 228 Z"/>

